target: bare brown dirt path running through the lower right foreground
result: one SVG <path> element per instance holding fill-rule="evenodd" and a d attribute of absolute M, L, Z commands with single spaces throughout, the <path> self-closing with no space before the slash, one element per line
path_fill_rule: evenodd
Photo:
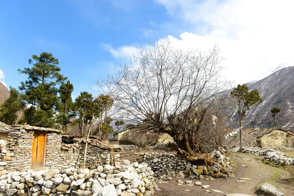
<path fill-rule="evenodd" d="M 274 168 L 261 163 L 263 157 L 245 153 L 232 153 L 231 157 L 236 163 L 235 178 L 202 180 L 202 185 L 209 185 L 207 189 L 200 186 L 177 185 L 176 181 L 159 181 L 161 191 L 156 196 L 223 196 L 226 193 L 239 193 L 256 196 L 255 191 L 260 185 L 268 182 L 282 191 L 285 196 L 294 196 L 294 184 L 289 182 L 289 174 L 283 169 Z M 246 160 L 242 160 L 246 159 Z M 250 159 L 251 161 L 248 161 Z M 245 165 L 246 167 L 244 167 Z M 250 178 L 246 182 L 237 182 L 238 178 Z M 185 181 L 185 180 L 183 180 Z M 161 183 L 160 183 L 161 182 Z M 223 193 L 216 193 L 219 190 Z M 207 192 L 209 191 L 209 192 Z"/>

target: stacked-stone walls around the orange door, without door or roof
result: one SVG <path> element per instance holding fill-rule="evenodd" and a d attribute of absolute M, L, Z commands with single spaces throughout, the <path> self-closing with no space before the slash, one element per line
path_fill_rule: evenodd
<path fill-rule="evenodd" d="M 7 135 L 6 147 L 0 152 L 0 173 L 26 171 L 31 168 L 32 143 L 35 131 L 44 131 L 45 128 L 32 126 L 11 127 Z M 53 130 L 53 129 L 50 129 Z M 66 145 L 62 142 L 60 132 L 44 131 L 47 133 L 45 167 L 46 168 L 81 168 L 85 143 L 75 142 Z M 93 140 L 91 141 L 93 143 Z M 99 165 L 112 164 L 112 159 L 118 162 L 120 154 L 113 154 L 110 147 L 88 144 L 86 167 L 95 169 Z"/>

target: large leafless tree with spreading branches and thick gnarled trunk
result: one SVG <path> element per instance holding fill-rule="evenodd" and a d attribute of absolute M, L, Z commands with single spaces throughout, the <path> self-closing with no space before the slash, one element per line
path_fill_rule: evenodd
<path fill-rule="evenodd" d="M 208 111 L 225 97 L 221 92 L 228 83 L 220 77 L 221 60 L 217 48 L 185 51 L 159 41 L 138 49 L 129 64 L 97 83 L 114 99 L 120 116 L 146 131 L 168 133 L 174 149 L 193 160 L 196 133 L 205 128 Z"/>

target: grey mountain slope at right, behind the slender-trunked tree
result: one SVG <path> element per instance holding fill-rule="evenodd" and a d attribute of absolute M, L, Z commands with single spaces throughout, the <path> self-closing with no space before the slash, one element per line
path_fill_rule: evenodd
<path fill-rule="evenodd" d="M 284 129 L 294 130 L 294 67 L 282 68 L 269 76 L 253 83 L 248 83 L 250 90 L 258 90 L 263 102 L 254 105 L 247 112 L 244 128 L 264 125 L 273 126 L 270 112 L 273 107 L 281 108 L 277 114 L 277 124 Z M 238 116 L 238 115 L 236 115 Z M 238 117 L 234 120 L 237 121 Z M 250 120 L 258 120 L 250 122 Z"/>

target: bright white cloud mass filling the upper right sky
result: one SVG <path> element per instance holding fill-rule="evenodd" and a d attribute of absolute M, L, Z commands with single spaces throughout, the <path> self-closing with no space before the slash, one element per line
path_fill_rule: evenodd
<path fill-rule="evenodd" d="M 225 58 L 223 74 L 236 84 L 251 81 L 274 65 L 293 59 L 292 0 L 155 1 L 194 29 L 182 32 L 179 38 L 163 39 L 168 38 L 181 49 L 207 50 L 218 45 Z M 108 45 L 107 50 L 119 58 L 130 57 L 136 48 L 113 49 Z"/>

